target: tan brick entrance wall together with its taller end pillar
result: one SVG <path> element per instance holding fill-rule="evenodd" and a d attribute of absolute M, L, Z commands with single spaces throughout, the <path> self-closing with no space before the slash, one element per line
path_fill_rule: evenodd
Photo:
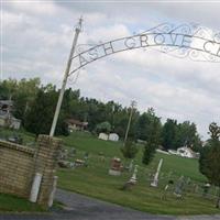
<path fill-rule="evenodd" d="M 52 191 L 61 140 L 38 136 L 31 148 L 0 141 L 0 193 L 29 198 L 35 173 L 42 174 L 37 204 L 47 206 Z"/>

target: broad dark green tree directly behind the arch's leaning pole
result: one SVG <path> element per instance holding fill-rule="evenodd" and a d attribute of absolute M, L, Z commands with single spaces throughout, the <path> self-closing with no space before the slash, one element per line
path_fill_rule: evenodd
<path fill-rule="evenodd" d="M 69 94 L 70 90 L 66 90 L 64 94 L 64 100 L 56 125 L 56 134 L 68 134 L 65 120 L 69 116 Z M 56 91 L 55 86 L 46 85 L 45 87 L 42 87 L 26 113 L 25 129 L 36 135 L 48 134 L 57 99 L 58 91 Z"/>

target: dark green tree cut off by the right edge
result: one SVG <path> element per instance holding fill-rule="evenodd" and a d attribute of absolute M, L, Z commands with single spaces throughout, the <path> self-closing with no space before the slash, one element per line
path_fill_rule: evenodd
<path fill-rule="evenodd" d="M 219 187 L 219 197 L 216 207 L 220 207 L 220 127 L 217 123 L 209 125 L 209 134 L 211 136 L 208 143 L 200 152 L 199 170 L 211 184 Z"/>

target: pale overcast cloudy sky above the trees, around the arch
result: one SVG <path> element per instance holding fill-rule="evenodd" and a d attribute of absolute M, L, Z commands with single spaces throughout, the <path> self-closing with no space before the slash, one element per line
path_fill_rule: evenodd
<path fill-rule="evenodd" d="M 220 32 L 220 1 L 2 1 L 1 79 L 40 77 L 61 87 L 74 28 L 84 16 L 79 44 L 100 43 L 143 32 L 164 22 L 197 23 Z M 190 120 L 207 138 L 220 123 L 220 63 L 197 63 L 153 50 L 108 56 L 72 77 L 81 96 L 114 100 L 156 114 Z"/>

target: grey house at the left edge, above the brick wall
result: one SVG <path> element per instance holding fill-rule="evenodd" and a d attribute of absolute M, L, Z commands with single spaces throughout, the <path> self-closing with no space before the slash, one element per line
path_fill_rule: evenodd
<path fill-rule="evenodd" d="M 13 101 L 0 100 L 0 127 L 20 129 L 21 120 L 12 116 L 12 107 Z"/>

